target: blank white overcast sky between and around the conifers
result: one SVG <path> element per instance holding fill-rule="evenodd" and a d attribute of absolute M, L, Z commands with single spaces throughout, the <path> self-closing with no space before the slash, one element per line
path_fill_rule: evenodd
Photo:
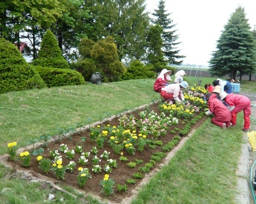
<path fill-rule="evenodd" d="M 147 10 L 151 13 L 158 8 L 159 1 L 146 0 Z M 256 25 L 256 0 L 165 0 L 165 10 L 176 24 L 181 42 L 180 55 L 185 55 L 185 64 L 208 65 L 216 42 L 224 25 L 238 6 L 245 9 L 251 30 Z"/>

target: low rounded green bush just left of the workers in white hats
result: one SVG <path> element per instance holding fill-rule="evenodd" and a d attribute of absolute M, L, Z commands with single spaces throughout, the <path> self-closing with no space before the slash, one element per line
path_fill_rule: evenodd
<path fill-rule="evenodd" d="M 148 79 L 155 78 L 155 76 L 156 74 L 152 71 L 152 66 L 143 65 L 139 60 L 134 60 L 131 62 L 130 67 L 127 67 L 127 71 L 122 75 L 122 79 Z"/>

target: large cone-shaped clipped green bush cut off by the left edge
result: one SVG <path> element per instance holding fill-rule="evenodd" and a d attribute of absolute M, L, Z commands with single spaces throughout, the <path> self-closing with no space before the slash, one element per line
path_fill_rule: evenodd
<path fill-rule="evenodd" d="M 9 41 L 0 39 L 0 93 L 43 88 L 46 84 Z"/>

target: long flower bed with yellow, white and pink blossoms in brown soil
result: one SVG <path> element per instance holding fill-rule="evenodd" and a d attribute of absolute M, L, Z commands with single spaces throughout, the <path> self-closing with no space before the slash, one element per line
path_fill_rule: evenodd
<path fill-rule="evenodd" d="M 205 105 L 193 94 L 191 105 L 156 103 L 69 137 L 57 137 L 41 149 L 26 151 L 30 165 L 12 165 L 46 175 L 85 192 L 120 202 L 161 163 L 191 128 L 200 125 Z M 16 147 L 8 145 L 9 148 Z M 9 149 L 10 150 L 10 149 Z M 9 151 L 10 152 L 10 151 Z M 12 152 L 13 153 L 13 152 Z M 34 154 L 34 155 L 33 155 Z M 20 157 L 24 158 L 24 153 Z M 50 161 L 50 162 L 49 162 Z M 24 168 L 25 169 L 25 168 Z M 111 194 L 116 196 L 109 196 Z"/>

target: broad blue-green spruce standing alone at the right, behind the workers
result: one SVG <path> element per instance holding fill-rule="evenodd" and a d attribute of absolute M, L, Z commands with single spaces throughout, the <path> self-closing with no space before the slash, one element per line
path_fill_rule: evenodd
<path fill-rule="evenodd" d="M 242 76 L 250 74 L 254 69 L 255 43 L 241 6 L 231 14 L 224 26 L 224 31 L 217 40 L 217 50 L 212 53 L 209 64 L 212 76 L 229 74 L 232 79 L 236 78 L 237 72 Z"/>

